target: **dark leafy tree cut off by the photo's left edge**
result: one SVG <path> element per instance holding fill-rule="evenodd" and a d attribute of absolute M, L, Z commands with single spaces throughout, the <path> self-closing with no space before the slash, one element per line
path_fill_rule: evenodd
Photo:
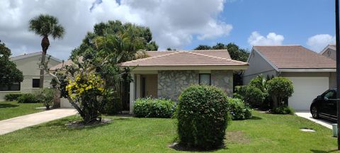
<path fill-rule="evenodd" d="M 16 64 L 9 60 L 11 50 L 0 40 L 0 85 L 10 86 L 23 81 L 23 72 L 16 68 Z"/>

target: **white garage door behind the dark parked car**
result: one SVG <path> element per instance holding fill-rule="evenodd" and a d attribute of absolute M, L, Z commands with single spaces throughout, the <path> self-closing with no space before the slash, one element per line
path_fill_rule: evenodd
<path fill-rule="evenodd" d="M 329 89 L 328 77 L 288 77 L 293 81 L 294 94 L 288 99 L 288 105 L 295 111 L 310 110 L 313 99 Z"/>

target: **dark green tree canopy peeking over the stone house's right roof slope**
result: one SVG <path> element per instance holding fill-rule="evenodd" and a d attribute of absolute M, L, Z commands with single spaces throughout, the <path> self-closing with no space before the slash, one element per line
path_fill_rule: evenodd
<path fill-rule="evenodd" d="M 230 57 L 232 60 L 238 60 L 246 62 L 249 57 L 249 51 L 239 48 L 238 45 L 230 42 L 227 45 L 223 43 L 217 43 L 216 45 L 209 46 L 209 45 L 198 45 L 194 50 L 228 50 Z"/>

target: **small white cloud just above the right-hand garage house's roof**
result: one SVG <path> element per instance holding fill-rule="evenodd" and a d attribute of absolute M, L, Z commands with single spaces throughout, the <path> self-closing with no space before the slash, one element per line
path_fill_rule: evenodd
<path fill-rule="evenodd" d="M 307 40 L 307 45 L 310 47 L 311 50 L 314 50 L 315 52 L 320 52 L 327 45 L 334 43 L 335 36 L 331 36 L 328 34 L 313 35 Z"/>

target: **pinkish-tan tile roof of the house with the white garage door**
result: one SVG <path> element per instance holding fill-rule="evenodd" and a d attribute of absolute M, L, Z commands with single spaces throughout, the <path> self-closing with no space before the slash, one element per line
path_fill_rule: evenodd
<path fill-rule="evenodd" d="M 336 62 L 301 45 L 254 46 L 278 69 L 336 68 Z"/>

